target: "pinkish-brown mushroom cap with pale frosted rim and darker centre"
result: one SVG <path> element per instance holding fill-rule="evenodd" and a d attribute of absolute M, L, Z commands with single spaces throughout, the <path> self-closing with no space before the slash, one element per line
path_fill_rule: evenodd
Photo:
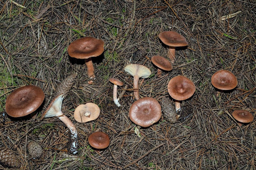
<path fill-rule="evenodd" d="M 161 105 L 151 97 L 143 97 L 136 100 L 129 110 L 131 121 L 142 127 L 148 127 L 158 122 L 161 116 Z"/>

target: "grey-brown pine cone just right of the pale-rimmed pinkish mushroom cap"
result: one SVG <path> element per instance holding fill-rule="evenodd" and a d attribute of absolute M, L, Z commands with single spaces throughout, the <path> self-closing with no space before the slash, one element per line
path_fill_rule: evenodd
<path fill-rule="evenodd" d="M 163 116 L 171 123 L 178 122 L 180 115 L 176 113 L 175 108 L 166 97 L 162 98 L 161 104 L 163 109 Z"/>

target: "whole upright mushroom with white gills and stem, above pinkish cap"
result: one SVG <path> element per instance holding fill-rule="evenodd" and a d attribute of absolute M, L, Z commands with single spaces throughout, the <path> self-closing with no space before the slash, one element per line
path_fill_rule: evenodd
<path fill-rule="evenodd" d="M 140 64 L 129 64 L 124 67 L 124 71 L 133 76 L 133 93 L 134 98 L 138 100 L 139 95 L 139 78 L 148 78 L 151 75 L 151 71 L 148 67 Z"/>

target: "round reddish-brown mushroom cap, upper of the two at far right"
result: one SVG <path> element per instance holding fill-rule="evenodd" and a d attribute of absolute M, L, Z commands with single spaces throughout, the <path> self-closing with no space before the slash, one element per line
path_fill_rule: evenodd
<path fill-rule="evenodd" d="M 220 90 L 232 90 L 237 86 L 237 79 L 230 71 L 219 70 L 212 75 L 212 85 Z"/>

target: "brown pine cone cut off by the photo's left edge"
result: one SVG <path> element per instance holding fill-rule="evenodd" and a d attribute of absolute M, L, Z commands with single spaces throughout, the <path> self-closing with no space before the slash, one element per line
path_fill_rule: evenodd
<path fill-rule="evenodd" d="M 17 156 L 8 148 L 0 149 L 0 164 L 9 168 L 19 168 L 20 161 Z"/>

